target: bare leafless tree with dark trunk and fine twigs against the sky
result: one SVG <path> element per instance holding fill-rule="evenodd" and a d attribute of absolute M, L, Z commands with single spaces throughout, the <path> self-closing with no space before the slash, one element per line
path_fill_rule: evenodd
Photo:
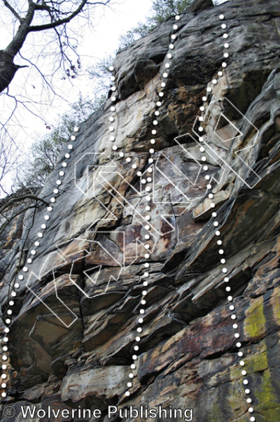
<path fill-rule="evenodd" d="M 55 88 L 58 78 L 53 80 L 55 73 L 62 71 L 59 79 L 76 78 L 81 67 L 77 45 L 83 38 L 84 24 L 92 24 L 99 15 L 97 6 L 102 11 L 102 6 L 114 1 L 0 0 L 1 43 L 8 40 L 6 48 L 0 50 L 0 193 L 8 193 L 3 180 L 15 171 L 22 155 L 17 150 L 18 134 L 21 143 L 25 135 L 30 139 L 22 113 L 33 115 L 37 122 L 41 119 L 50 128 L 43 115 L 60 96 Z M 25 75 L 13 81 L 18 69 L 24 67 L 28 67 Z"/>

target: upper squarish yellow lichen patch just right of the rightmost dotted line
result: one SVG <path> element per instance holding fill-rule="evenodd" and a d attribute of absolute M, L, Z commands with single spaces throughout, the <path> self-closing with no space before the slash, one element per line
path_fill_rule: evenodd
<path fill-rule="evenodd" d="M 262 297 L 255 300 L 246 310 L 244 335 L 249 337 L 250 341 L 265 335 L 265 314 Z"/>

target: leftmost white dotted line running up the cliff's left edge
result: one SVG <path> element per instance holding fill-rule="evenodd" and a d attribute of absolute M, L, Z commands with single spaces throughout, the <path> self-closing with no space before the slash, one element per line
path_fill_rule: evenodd
<path fill-rule="evenodd" d="M 74 127 L 74 132 L 78 132 L 78 127 Z M 75 136 L 75 135 L 71 135 L 71 141 L 76 141 L 76 136 Z M 73 144 L 72 144 L 72 143 L 69 143 L 69 145 L 68 145 L 68 149 L 69 149 L 69 150 L 72 150 L 72 149 L 73 149 Z M 69 154 L 69 153 L 66 153 L 66 154 L 65 154 L 65 158 L 66 158 L 66 159 L 69 159 L 69 158 L 70 158 L 70 154 Z M 67 163 L 66 163 L 66 162 L 62 162 L 62 168 L 63 168 L 63 169 L 65 169 L 65 167 L 67 167 Z M 63 176 L 64 176 L 64 171 L 63 171 L 63 170 L 60 170 L 60 171 L 59 171 L 59 178 L 58 178 L 58 179 L 57 179 L 57 181 L 56 181 L 57 186 L 59 186 L 59 185 L 61 185 L 61 184 L 62 184 L 62 180 L 61 180 L 61 178 L 62 178 Z M 54 193 L 55 195 L 57 195 L 57 194 L 59 193 L 59 190 L 58 190 L 57 188 L 55 188 L 55 189 L 53 190 L 53 193 Z M 56 201 L 56 197 L 55 197 L 55 196 L 50 198 L 50 203 L 51 203 L 51 205 L 47 207 L 48 212 L 51 212 L 51 211 L 52 211 L 52 209 L 53 209 L 53 204 L 55 204 L 55 201 Z M 49 216 L 48 214 L 45 214 L 45 216 L 44 216 L 44 220 L 45 220 L 45 221 L 50 220 L 50 216 Z M 45 230 L 46 228 L 47 228 L 47 225 L 46 225 L 45 223 L 41 224 L 41 229 L 42 229 L 42 230 Z M 43 237 L 43 232 L 38 232 L 37 236 L 38 236 L 38 238 L 39 238 L 39 239 L 41 239 L 41 238 Z M 36 247 L 38 247 L 38 246 L 40 246 L 40 242 L 39 242 L 39 241 L 35 241 L 35 242 L 34 242 L 34 245 L 35 245 Z M 32 263 L 32 258 L 34 257 L 34 255 L 36 255 L 36 249 L 31 249 L 31 251 L 30 251 L 30 255 L 31 255 L 31 257 L 27 258 L 27 263 L 28 263 L 28 264 L 31 264 L 31 263 Z M 29 271 L 29 267 L 27 267 L 27 265 L 25 265 L 25 267 L 23 267 L 23 268 L 22 268 L 22 271 L 23 271 L 23 272 L 28 272 L 28 271 Z M 22 274 L 20 274 L 20 275 L 18 276 L 18 279 L 19 279 L 20 281 L 22 281 L 22 280 L 24 280 L 24 279 L 25 279 L 25 277 L 24 277 Z M 15 289 L 18 289 L 18 288 L 20 288 L 20 284 L 19 284 L 18 282 L 15 282 L 15 284 L 14 284 L 14 286 L 13 286 L 13 287 L 14 287 Z M 16 297 L 16 295 L 17 295 L 17 293 L 15 293 L 15 290 L 12 290 L 12 292 L 10 293 L 10 295 L 11 295 L 11 297 L 12 297 L 12 298 L 15 298 L 15 297 Z M 9 301 L 9 305 L 10 305 L 10 307 L 13 307 L 13 305 L 14 305 L 14 304 L 15 304 L 15 302 L 14 302 L 13 300 L 10 300 L 10 301 Z M 7 310 L 7 314 L 8 314 L 8 316 L 11 316 L 11 315 L 13 314 L 12 309 L 8 309 L 8 310 Z M 6 318 L 5 323 L 6 323 L 6 325 L 10 325 L 10 323 L 11 323 L 10 318 Z M 7 342 L 8 342 L 8 337 L 7 337 L 7 335 L 8 335 L 8 332 L 10 332 L 9 328 L 8 328 L 8 327 L 4 328 L 4 332 L 5 332 L 5 336 L 3 337 L 3 340 L 2 340 L 2 341 L 3 341 L 4 343 L 7 343 Z M 8 346 L 3 346 L 3 347 L 2 347 L 2 350 L 3 350 L 4 352 L 8 352 Z M 8 356 L 7 356 L 6 354 L 4 354 L 4 355 L 2 356 L 2 360 L 3 360 L 4 362 L 6 362 L 6 361 L 8 360 Z M 6 370 L 7 370 L 7 365 L 6 365 L 6 363 L 3 363 L 3 364 L 2 364 L 1 369 L 2 369 L 3 371 L 6 371 Z M 3 382 L 2 382 L 2 384 L 1 384 L 1 388 L 6 388 L 6 386 L 7 386 L 7 384 L 6 384 L 6 382 L 5 382 L 6 378 L 7 378 L 7 375 L 6 375 L 5 373 L 2 373 L 2 374 L 1 374 L 1 379 L 2 379 L 2 380 L 4 380 L 4 381 L 3 381 Z M 6 397 L 6 395 L 7 395 L 6 391 L 3 391 L 3 392 L 1 393 L 1 396 L 2 396 L 3 398 L 5 398 L 5 397 Z"/>

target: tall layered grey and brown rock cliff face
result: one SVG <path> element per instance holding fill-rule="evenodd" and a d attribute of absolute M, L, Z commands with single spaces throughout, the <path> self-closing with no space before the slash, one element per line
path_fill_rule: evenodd
<path fill-rule="evenodd" d="M 278 0 L 196 1 L 118 53 L 52 211 L 6 230 L 2 421 L 279 421 L 279 45 Z"/>

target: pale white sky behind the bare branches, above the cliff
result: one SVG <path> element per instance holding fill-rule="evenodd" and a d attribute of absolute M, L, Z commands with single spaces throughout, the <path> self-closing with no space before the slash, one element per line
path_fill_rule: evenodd
<path fill-rule="evenodd" d="M 22 4 L 25 3 L 25 0 L 21 1 Z M 76 17 L 71 22 L 74 25 L 73 29 L 78 34 L 83 34 L 78 45 L 78 54 L 83 66 L 82 75 L 76 79 L 62 80 L 61 75 L 60 77 L 57 75 L 51 80 L 51 87 L 45 90 L 43 80 L 33 66 L 17 71 L 9 87 L 10 97 L 0 95 L 0 122 L 8 120 L 6 127 L 18 144 L 22 156 L 30 155 L 31 143 L 46 133 L 46 125 L 55 125 L 57 115 L 64 113 L 70 104 L 77 101 L 79 92 L 90 97 L 92 90 L 94 94 L 94 81 L 85 78 L 83 72 L 92 64 L 99 62 L 102 57 L 114 55 L 118 48 L 119 36 L 137 26 L 138 22 L 144 21 L 149 15 L 151 6 L 152 0 L 111 0 L 110 7 L 100 6 L 94 10 L 92 25 L 86 24 L 85 19 Z M 8 11 L 3 8 L 1 12 L 0 50 L 3 50 L 11 40 L 15 29 Z M 37 52 L 41 51 L 46 54 L 39 63 L 40 67 L 48 69 L 51 45 L 49 47 L 45 45 L 43 33 L 29 34 L 21 50 L 22 56 L 36 57 Z M 18 56 L 15 58 L 15 63 L 29 64 Z M 58 95 L 53 94 L 52 89 Z M 23 103 L 18 103 L 16 109 L 14 96 Z M 36 100 L 36 105 L 29 99 Z M 10 183 L 9 178 L 7 181 Z"/>

